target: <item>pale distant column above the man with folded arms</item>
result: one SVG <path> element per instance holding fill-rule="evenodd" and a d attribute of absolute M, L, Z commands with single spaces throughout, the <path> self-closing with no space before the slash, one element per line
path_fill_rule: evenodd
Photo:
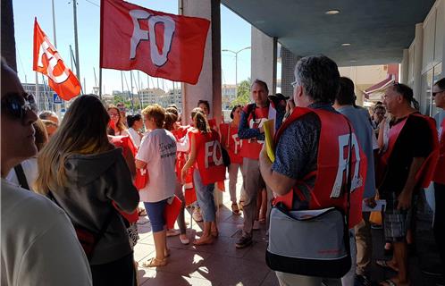
<path fill-rule="evenodd" d="M 269 94 L 276 93 L 277 38 L 265 35 L 252 26 L 251 79 L 264 80 Z"/>

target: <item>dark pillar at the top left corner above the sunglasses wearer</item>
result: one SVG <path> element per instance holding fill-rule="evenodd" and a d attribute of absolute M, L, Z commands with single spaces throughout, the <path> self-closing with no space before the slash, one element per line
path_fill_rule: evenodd
<path fill-rule="evenodd" d="M 2 56 L 17 71 L 15 55 L 13 0 L 2 0 Z"/>

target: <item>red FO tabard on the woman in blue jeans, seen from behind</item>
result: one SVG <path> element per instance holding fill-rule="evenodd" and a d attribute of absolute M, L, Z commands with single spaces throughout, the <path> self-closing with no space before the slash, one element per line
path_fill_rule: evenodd
<path fill-rule="evenodd" d="M 202 133 L 193 131 L 197 148 L 197 170 L 204 185 L 223 181 L 225 179 L 225 165 L 218 133 L 211 131 Z"/>

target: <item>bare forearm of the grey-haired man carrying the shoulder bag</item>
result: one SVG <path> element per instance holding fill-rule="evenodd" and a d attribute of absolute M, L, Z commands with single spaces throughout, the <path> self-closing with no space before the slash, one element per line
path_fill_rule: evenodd
<path fill-rule="evenodd" d="M 263 149 L 261 150 L 259 156 L 259 165 L 264 182 L 275 194 L 279 196 L 286 195 L 288 192 L 290 192 L 292 187 L 297 182 L 295 179 L 289 178 L 288 176 L 272 170 L 272 162 L 269 159 L 269 156 L 267 156 L 265 144 L 263 145 Z"/>

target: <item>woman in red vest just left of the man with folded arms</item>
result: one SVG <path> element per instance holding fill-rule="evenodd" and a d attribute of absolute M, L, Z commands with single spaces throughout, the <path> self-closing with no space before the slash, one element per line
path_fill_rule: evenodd
<path fill-rule="evenodd" d="M 238 170 L 242 165 L 242 156 L 239 155 L 242 146 L 242 140 L 238 137 L 239 119 L 241 118 L 241 105 L 235 105 L 231 110 L 231 119 L 229 123 L 220 124 L 221 143 L 231 156 L 229 166 L 229 192 L 231 194 L 231 211 L 239 215 L 239 206 L 237 204 L 237 179 Z"/>

